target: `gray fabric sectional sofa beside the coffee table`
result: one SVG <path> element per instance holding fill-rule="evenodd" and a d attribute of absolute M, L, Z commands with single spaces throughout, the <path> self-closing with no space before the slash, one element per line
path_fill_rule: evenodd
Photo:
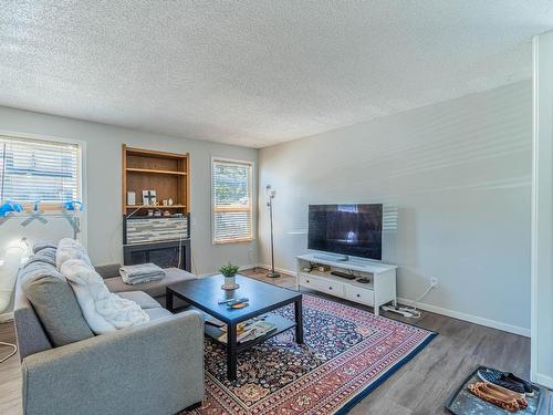
<path fill-rule="evenodd" d="M 48 249 L 20 271 L 15 288 L 24 414 L 168 415 L 202 401 L 204 320 L 198 312 L 174 315 L 146 292 L 106 280 L 114 291 L 124 289 L 119 295 L 138 303 L 150 321 L 94 335 L 52 263 L 55 249 Z M 165 287 L 147 290 L 161 294 Z"/>

